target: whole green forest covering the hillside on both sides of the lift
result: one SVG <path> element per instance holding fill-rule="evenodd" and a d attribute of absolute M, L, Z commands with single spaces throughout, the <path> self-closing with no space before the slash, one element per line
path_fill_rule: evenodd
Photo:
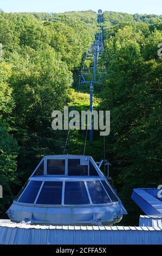
<path fill-rule="evenodd" d="M 161 175 L 162 16 L 103 13 L 104 90 L 94 108 L 111 111 L 105 157 L 114 187 L 128 211 L 122 223 L 138 223 L 133 188 L 157 187 Z M 0 12 L 0 184 L 5 216 L 12 200 L 44 155 L 63 154 L 67 131 L 51 129 L 51 113 L 64 106 L 89 109 L 78 92 L 78 74 L 97 31 L 92 11 L 64 14 Z M 82 154 L 85 134 L 73 131 L 66 153 Z M 103 138 L 95 132 L 86 154 L 100 161 Z"/>

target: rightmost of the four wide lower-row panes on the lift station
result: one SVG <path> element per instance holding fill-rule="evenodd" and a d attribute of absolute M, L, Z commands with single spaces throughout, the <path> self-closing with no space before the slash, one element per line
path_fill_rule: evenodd
<path fill-rule="evenodd" d="M 93 204 L 111 203 L 100 181 L 87 181 L 87 186 Z"/>

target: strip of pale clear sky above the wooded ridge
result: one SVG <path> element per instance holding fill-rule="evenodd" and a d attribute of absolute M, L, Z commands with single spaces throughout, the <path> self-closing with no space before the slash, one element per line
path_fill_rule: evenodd
<path fill-rule="evenodd" d="M 63 13 L 72 10 L 121 11 L 123 13 L 162 14 L 161 0 L 0 0 L 5 12 Z"/>

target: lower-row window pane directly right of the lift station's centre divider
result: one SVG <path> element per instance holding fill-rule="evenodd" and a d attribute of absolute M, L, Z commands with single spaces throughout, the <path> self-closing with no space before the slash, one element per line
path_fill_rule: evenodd
<path fill-rule="evenodd" d="M 64 188 L 64 204 L 90 204 L 85 183 L 83 181 L 66 182 Z"/>

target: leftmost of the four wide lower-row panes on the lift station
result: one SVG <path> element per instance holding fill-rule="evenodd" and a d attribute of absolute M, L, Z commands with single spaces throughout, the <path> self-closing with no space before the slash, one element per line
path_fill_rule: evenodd
<path fill-rule="evenodd" d="M 42 185 L 42 181 L 30 181 L 28 187 L 18 200 L 20 203 L 34 204 L 38 191 Z"/>

